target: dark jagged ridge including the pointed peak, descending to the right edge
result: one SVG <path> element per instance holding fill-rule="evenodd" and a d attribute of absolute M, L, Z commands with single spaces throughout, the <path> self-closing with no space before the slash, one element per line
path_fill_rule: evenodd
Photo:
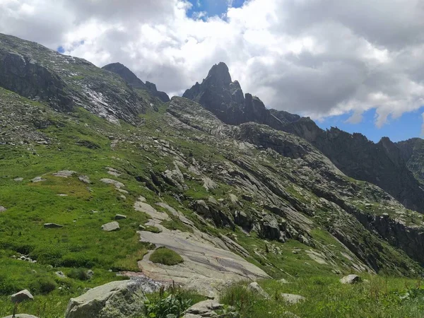
<path fill-rule="evenodd" d="M 204 81 L 196 83 L 183 97 L 199 102 L 226 124 L 257 122 L 300 136 L 349 177 L 376 184 L 406 208 L 424 212 L 424 190 L 413 175 L 418 168 L 412 168 L 411 173 L 408 167 L 413 164 L 407 165 L 409 158 L 401 155 L 388 138 L 373 143 L 361 134 L 336 128 L 324 131 L 309 118 L 268 110 L 259 98 L 250 94 L 243 97 L 240 84 L 231 81 L 223 63 L 214 65 Z"/>

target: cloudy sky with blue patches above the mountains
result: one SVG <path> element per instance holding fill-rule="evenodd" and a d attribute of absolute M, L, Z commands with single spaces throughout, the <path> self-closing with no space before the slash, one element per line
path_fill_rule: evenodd
<path fill-rule="evenodd" d="M 181 95 L 224 61 L 266 107 L 423 136 L 422 0 L 0 0 L 0 32 Z"/>

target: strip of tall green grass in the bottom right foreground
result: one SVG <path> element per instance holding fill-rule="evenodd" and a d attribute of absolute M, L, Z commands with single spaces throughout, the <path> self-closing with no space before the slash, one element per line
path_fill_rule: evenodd
<path fill-rule="evenodd" d="M 288 312 L 310 318 L 423 317 L 424 290 L 420 281 L 367 276 L 367 281 L 343 285 L 338 277 L 287 278 L 289 284 L 261 281 L 270 299 L 245 289 L 245 284 L 225 290 L 220 301 L 234 306 L 244 318 L 290 317 Z M 288 305 L 281 293 L 302 295 L 305 301 Z"/>

